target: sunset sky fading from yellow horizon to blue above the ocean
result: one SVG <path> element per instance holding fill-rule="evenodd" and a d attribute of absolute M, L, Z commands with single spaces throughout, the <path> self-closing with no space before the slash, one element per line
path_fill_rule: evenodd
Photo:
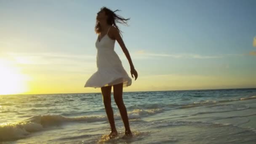
<path fill-rule="evenodd" d="M 94 93 L 96 13 L 119 24 L 138 72 L 123 91 L 256 88 L 255 0 L 0 0 L 0 94 Z"/>

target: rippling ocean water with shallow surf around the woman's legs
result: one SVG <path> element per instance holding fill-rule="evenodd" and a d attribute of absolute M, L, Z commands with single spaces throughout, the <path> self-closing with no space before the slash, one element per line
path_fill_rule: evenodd
<path fill-rule="evenodd" d="M 133 137 L 101 93 L 0 96 L 1 144 L 255 144 L 256 88 L 123 92 Z"/>

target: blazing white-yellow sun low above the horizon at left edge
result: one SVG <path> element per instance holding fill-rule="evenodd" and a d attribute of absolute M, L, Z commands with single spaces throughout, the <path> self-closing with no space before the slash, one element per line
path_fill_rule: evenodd
<path fill-rule="evenodd" d="M 0 60 L 0 95 L 21 94 L 27 91 L 26 76 L 17 67 Z"/>

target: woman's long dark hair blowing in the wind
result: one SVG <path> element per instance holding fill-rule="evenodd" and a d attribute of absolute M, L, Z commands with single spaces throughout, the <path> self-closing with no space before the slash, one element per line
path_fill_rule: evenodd
<path fill-rule="evenodd" d="M 100 11 L 102 11 L 102 10 L 105 11 L 105 13 L 106 13 L 106 15 L 108 17 L 107 18 L 107 24 L 109 24 L 111 26 L 115 26 L 117 28 L 118 32 L 120 33 L 120 35 L 122 35 L 121 34 L 122 31 L 119 29 L 119 27 L 117 26 L 116 23 L 125 24 L 125 25 L 128 26 L 127 21 L 130 18 L 125 19 L 122 16 L 119 16 L 119 15 L 117 15 L 115 13 L 116 11 L 120 11 L 120 10 L 112 11 L 112 10 L 110 10 L 107 7 L 102 7 Z M 96 34 L 101 32 L 101 25 L 100 25 L 100 23 L 98 21 L 96 21 L 96 25 L 95 25 L 94 31 L 96 32 Z M 123 35 L 122 35 L 122 37 L 123 37 Z"/>

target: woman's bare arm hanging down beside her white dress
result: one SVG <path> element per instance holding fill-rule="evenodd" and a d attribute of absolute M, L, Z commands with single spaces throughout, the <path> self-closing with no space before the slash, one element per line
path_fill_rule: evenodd
<path fill-rule="evenodd" d="M 113 26 L 112 26 L 113 27 Z M 113 27 L 112 28 L 112 34 L 114 35 L 115 39 L 117 40 L 117 42 L 119 43 L 120 47 L 122 48 L 123 52 L 125 53 L 125 56 L 126 58 L 128 59 L 129 61 L 129 64 L 130 64 L 130 68 L 131 68 L 131 76 L 133 77 L 133 75 L 135 76 L 135 80 L 137 79 L 138 77 L 138 73 L 136 72 L 134 66 L 133 66 L 133 62 L 131 60 L 131 56 L 130 56 L 130 53 L 128 51 L 128 49 L 126 48 L 125 46 L 125 43 L 123 42 L 123 39 L 119 33 L 119 31 L 117 30 L 116 27 Z"/>

